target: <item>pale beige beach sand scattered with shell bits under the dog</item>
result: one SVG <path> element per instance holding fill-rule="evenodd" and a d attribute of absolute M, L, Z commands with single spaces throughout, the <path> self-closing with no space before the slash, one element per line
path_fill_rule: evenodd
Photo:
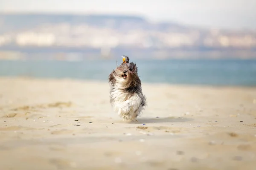
<path fill-rule="evenodd" d="M 138 122 L 109 85 L 0 78 L 0 170 L 255 170 L 256 87 L 143 83 Z"/>

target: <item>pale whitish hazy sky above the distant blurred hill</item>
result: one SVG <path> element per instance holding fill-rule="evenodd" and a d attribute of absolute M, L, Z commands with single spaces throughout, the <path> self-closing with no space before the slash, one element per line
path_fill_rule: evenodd
<path fill-rule="evenodd" d="M 0 12 L 139 14 L 214 28 L 256 29 L 256 0 L 0 0 Z"/>

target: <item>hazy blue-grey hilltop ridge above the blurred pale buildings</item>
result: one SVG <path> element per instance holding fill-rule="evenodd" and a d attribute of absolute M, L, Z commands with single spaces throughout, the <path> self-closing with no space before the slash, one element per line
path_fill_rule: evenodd
<path fill-rule="evenodd" d="M 79 25 L 87 23 L 90 26 L 107 27 L 119 29 L 120 26 L 126 23 L 133 23 L 131 28 L 143 28 L 154 31 L 164 31 L 168 28 L 185 28 L 176 23 L 157 23 L 152 24 L 143 17 L 127 16 L 127 15 L 77 15 L 77 14 L 0 14 L 1 28 L 0 30 L 7 31 L 6 28 L 19 30 L 22 28 L 31 28 L 40 26 L 42 23 L 61 24 L 69 23 L 70 25 Z M 114 24 L 110 26 L 110 22 Z"/>

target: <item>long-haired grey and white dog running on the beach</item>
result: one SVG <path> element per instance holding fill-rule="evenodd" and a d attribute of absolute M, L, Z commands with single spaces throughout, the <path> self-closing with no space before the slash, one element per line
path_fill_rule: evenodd
<path fill-rule="evenodd" d="M 110 83 L 110 103 L 122 120 L 137 121 L 145 109 L 146 97 L 143 95 L 136 63 L 123 57 L 123 63 L 116 67 L 108 77 Z"/>

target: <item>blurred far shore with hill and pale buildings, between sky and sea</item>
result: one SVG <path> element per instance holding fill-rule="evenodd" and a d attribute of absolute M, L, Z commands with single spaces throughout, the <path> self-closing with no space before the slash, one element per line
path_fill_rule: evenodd
<path fill-rule="evenodd" d="M 1 51 L 103 55 L 104 49 L 151 58 L 254 58 L 256 30 L 207 30 L 127 15 L 0 14 Z"/>

